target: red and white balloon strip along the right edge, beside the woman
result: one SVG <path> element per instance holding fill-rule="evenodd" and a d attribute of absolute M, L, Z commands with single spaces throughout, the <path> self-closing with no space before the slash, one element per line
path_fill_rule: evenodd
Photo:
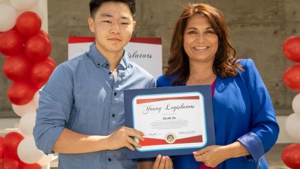
<path fill-rule="evenodd" d="M 283 53 L 289 60 L 300 63 L 300 36 L 291 36 L 283 43 Z M 294 91 L 300 91 L 300 65 L 288 67 L 283 82 Z M 292 100 L 294 113 L 286 119 L 286 131 L 293 139 L 300 141 L 300 93 Z M 290 168 L 300 168 L 300 144 L 290 144 L 283 149 L 281 159 Z"/>

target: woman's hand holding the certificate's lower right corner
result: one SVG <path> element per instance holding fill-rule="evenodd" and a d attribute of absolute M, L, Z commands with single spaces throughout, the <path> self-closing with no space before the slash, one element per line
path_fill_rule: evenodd
<path fill-rule="evenodd" d="M 207 146 L 201 150 L 193 152 L 195 161 L 199 161 L 208 167 L 216 167 L 223 161 L 228 159 L 228 152 L 226 152 L 225 146 Z"/>

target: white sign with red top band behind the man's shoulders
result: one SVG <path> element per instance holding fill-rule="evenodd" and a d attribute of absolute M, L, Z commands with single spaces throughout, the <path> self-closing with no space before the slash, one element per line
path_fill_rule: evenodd
<path fill-rule="evenodd" d="M 68 58 L 87 52 L 94 40 L 94 37 L 69 37 Z M 131 38 L 125 49 L 129 60 L 143 67 L 155 79 L 162 74 L 161 38 Z"/>

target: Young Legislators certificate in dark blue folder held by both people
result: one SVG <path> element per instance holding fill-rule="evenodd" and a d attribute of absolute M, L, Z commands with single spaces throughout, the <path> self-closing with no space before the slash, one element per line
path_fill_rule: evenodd
<path fill-rule="evenodd" d="M 210 85 L 132 89 L 124 100 L 125 125 L 144 133 L 129 159 L 191 155 L 215 144 Z"/>

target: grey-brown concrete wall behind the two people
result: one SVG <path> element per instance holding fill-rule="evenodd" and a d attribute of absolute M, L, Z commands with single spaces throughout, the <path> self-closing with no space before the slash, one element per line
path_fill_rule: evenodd
<path fill-rule="evenodd" d="M 231 42 L 238 58 L 253 58 L 276 109 L 277 115 L 292 113 L 297 92 L 286 88 L 283 72 L 294 63 L 282 52 L 283 41 L 300 33 L 299 0 L 136 0 L 138 23 L 133 36 L 161 37 L 163 62 L 167 62 L 173 25 L 188 2 L 205 2 L 224 12 Z M 48 1 L 49 33 L 56 62 L 67 60 L 68 36 L 92 36 L 87 27 L 89 0 Z M 1 66 L 3 57 L 0 57 Z M 12 116 L 6 97 L 9 82 L 0 74 L 0 117 Z"/>

